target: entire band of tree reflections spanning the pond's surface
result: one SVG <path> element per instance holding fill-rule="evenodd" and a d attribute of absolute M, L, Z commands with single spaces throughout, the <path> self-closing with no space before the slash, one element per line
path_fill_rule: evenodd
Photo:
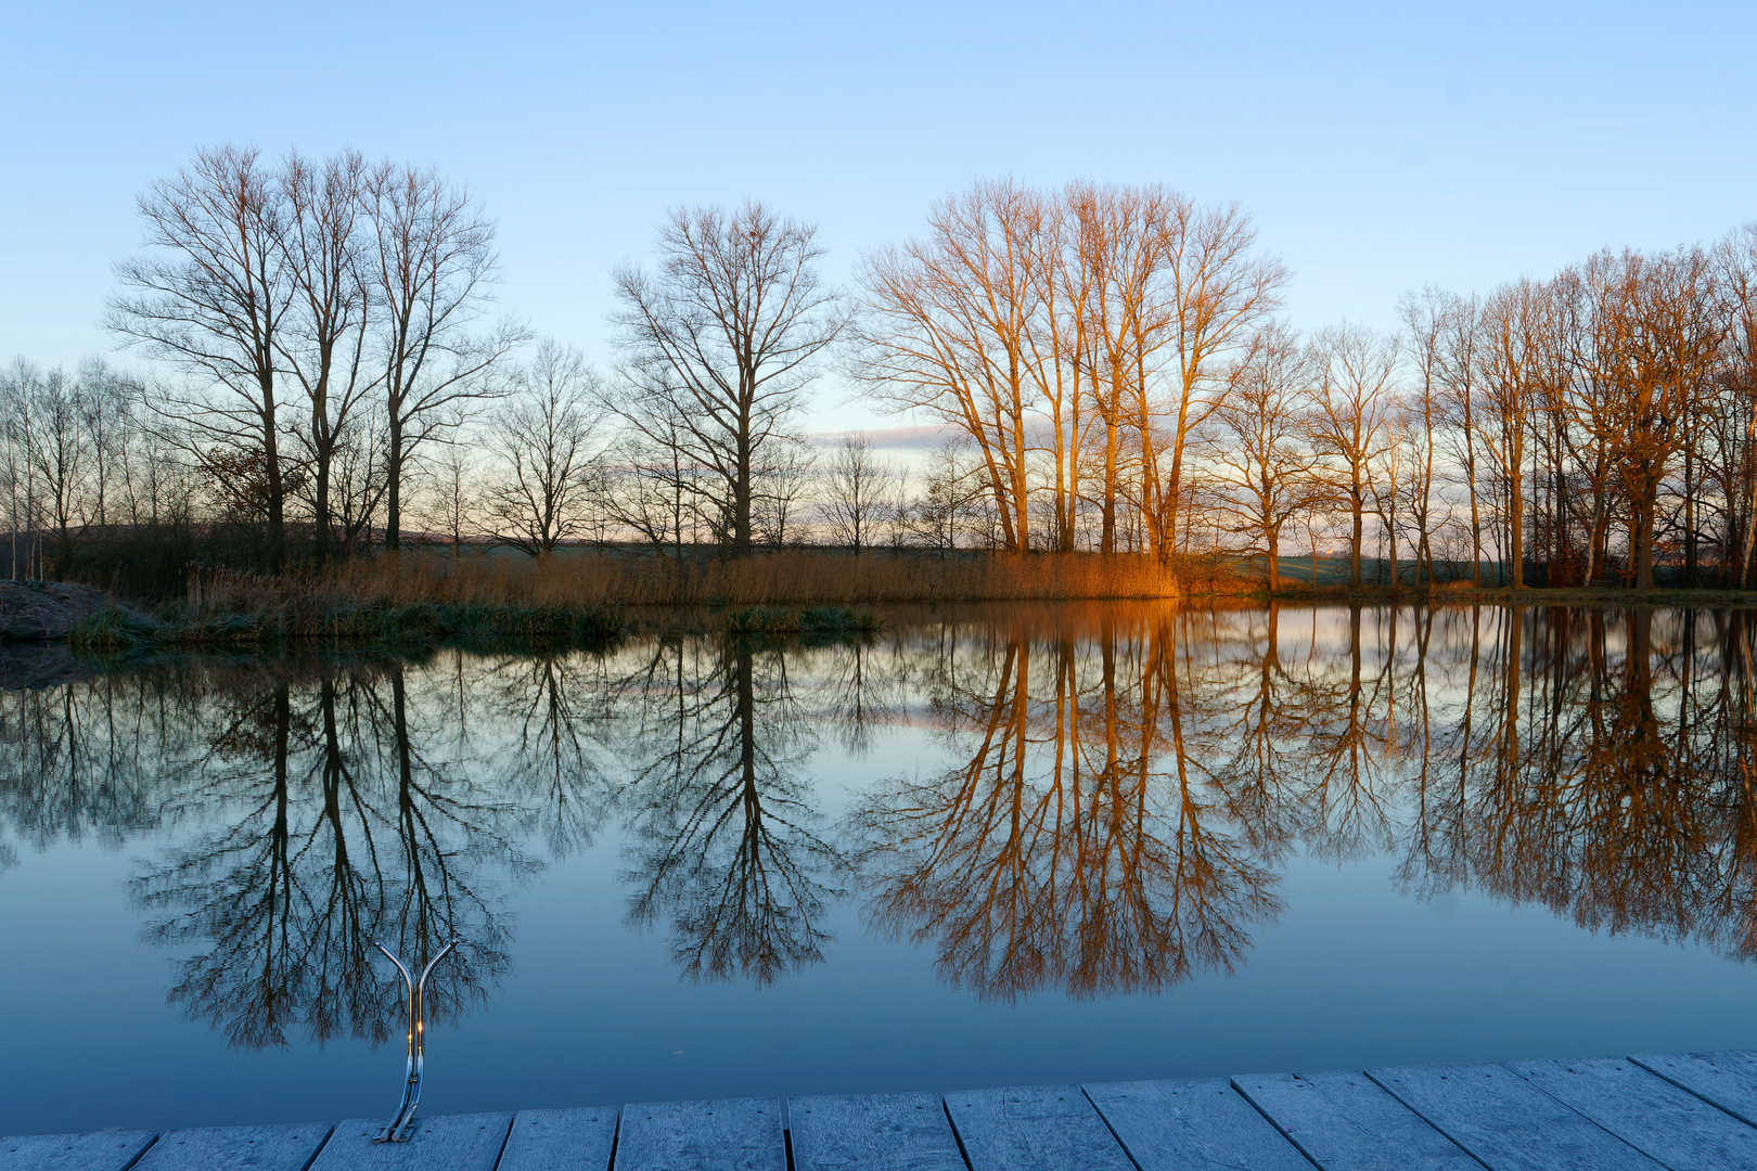
<path fill-rule="evenodd" d="M 241 1045 L 395 1031 L 374 936 L 466 936 L 436 973 L 464 1011 L 506 969 L 520 843 L 611 816 L 629 918 L 685 974 L 822 960 L 849 837 L 810 755 L 889 720 L 951 764 L 857 795 L 866 911 L 982 995 L 1246 964 L 1295 851 L 1752 957 L 1753 641 L 1743 611 L 1070 606 L 863 646 L 146 665 L 0 692 L 0 841 L 177 843 L 135 894 L 177 1002 Z"/>

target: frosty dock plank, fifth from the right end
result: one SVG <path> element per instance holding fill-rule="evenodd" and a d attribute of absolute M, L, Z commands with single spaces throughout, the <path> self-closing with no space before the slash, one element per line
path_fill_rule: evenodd
<path fill-rule="evenodd" d="M 1311 1171 L 1288 1139 L 1221 1078 L 1109 1081 L 1088 1097 L 1140 1171 Z"/>

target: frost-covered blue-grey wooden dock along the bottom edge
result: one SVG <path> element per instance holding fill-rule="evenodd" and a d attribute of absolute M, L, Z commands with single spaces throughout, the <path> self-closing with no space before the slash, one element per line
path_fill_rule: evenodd
<path fill-rule="evenodd" d="M 0 1139 L 0 1171 L 1757 1169 L 1757 1052 Z"/>

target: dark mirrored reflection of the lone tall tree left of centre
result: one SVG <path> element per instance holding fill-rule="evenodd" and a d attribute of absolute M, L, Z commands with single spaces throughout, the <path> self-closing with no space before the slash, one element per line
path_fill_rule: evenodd
<path fill-rule="evenodd" d="M 810 743 L 780 648 L 657 643 L 622 690 L 634 887 L 629 920 L 669 918 L 692 980 L 770 983 L 822 962 L 840 853 L 812 811 Z"/>

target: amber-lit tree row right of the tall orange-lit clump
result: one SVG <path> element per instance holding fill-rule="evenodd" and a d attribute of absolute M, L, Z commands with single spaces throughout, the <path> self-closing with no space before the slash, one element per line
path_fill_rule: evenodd
<path fill-rule="evenodd" d="M 1293 518 L 1372 514 L 1413 574 L 1571 585 L 1673 560 L 1752 585 L 1757 228 L 1713 248 L 1599 253 L 1486 297 L 1423 290 L 1404 330 L 1260 330 L 1212 414 L 1214 507 L 1274 553 Z M 1616 557 L 1616 555 L 1622 557 Z"/>

